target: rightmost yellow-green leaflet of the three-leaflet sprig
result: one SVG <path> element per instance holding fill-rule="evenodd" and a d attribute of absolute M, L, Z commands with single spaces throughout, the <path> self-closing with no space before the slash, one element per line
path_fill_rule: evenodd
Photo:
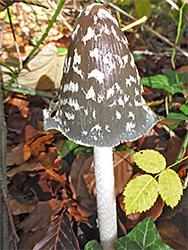
<path fill-rule="evenodd" d="M 178 174 L 172 169 L 165 169 L 159 175 L 159 193 L 168 206 L 174 208 L 183 194 L 183 187 Z"/>

